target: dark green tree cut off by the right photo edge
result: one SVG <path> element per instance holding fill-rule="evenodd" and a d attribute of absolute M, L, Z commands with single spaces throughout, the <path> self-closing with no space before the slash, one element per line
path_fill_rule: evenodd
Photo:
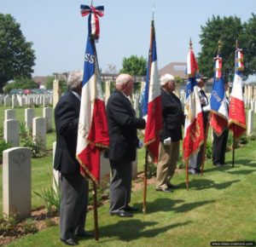
<path fill-rule="evenodd" d="M 240 45 L 241 43 L 241 45 Z M 239 46 L 244 53 L 245 69 L 243 74 L 246 76 L 256 73 L 256 14 L 244 23 L 244 32 L 239 40 Z"/>

